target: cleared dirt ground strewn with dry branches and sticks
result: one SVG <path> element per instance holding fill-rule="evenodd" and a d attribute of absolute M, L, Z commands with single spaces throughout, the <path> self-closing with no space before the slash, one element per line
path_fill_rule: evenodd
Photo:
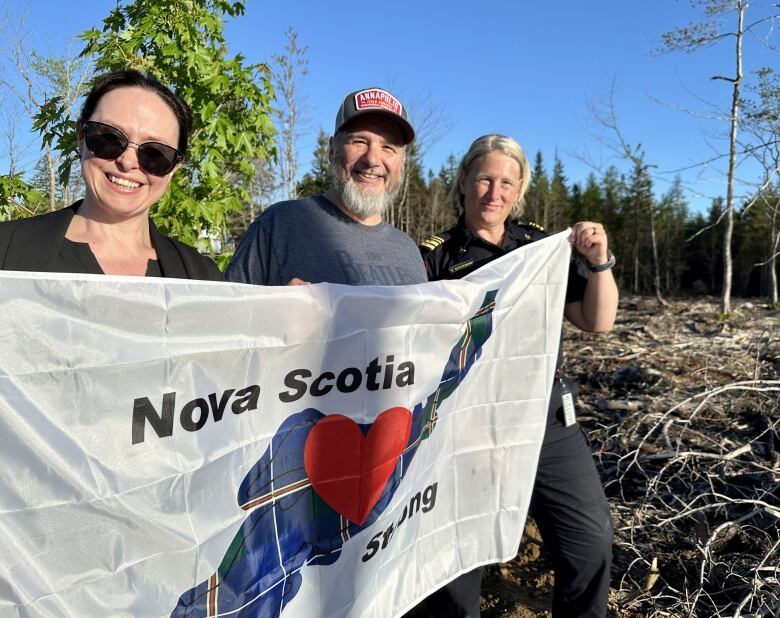
<path fill-rule="evenodd" d="M 733 304 L 631 298 L 613 332 L 565 331 L 615 525 L 611 618 L 780 616 L 780 312 Z M 529 522 L 483 616 L 550 616 L 552 584 Z"/>

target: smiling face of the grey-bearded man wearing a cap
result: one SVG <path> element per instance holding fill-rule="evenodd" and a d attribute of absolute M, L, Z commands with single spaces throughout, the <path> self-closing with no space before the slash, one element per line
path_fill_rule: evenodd
<path fill-rule="evenodd" d="M 381 217 L 401 188 L 403 137 L 377 115 L 353 120 L 331 141 L 331 180 L 342 206 L 358 220 Z"/>

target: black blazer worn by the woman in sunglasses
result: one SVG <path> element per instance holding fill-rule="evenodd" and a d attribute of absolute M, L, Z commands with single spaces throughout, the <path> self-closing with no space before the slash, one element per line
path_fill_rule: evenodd
<path fill-rule="evenodd" d="M 62 210 L 0 223 L 0 270 L 57 272 L 53 262 L 81 200 Z M 222 281 L 208 257 L 178 240 L 163 236 L 149 220 L 152 245 L 163 277 Z"/>

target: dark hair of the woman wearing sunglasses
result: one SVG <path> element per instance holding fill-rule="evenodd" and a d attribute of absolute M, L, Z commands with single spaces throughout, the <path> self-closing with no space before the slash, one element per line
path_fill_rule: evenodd
<path fill-rule="evenodd" d="M 127 88 L 136 86 L 138 88 L 145 88 L 151 90 L 160 96 L 165 101 L 168 107 L 171 108 L 176 120 L 179 122 L 179 152 L 184 155 L 187 152 L 187 140 L 192 127 L 192 114 L 189 106 L 184 100 L 173 92 L 170 88 L 158 81 L 151 75 L 145 75 L 139 71 L 133 71 L 126 69 L 122 71 L 112 71 L 97 77 L 87 94 L 87 98 L 84 99 L 84 105 L 81 106 L 81 113 L 79 114 L 79 124 L 90 119 L 95 112 L 100 99 L 103 95 L 116 90 L 117 88 Z"/>

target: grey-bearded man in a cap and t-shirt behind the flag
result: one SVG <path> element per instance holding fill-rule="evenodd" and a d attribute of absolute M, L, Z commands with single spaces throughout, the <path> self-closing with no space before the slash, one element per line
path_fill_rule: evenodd
<path fill-rule="evenodd" d="M 278 202 L 247 230 L 225 278 L 239 283 L 408 285 L 427 281 L 414 241 L 384 220 L 414 129 L 392 94 L 348 94 L 336 114 L 331 188 Z"/>

